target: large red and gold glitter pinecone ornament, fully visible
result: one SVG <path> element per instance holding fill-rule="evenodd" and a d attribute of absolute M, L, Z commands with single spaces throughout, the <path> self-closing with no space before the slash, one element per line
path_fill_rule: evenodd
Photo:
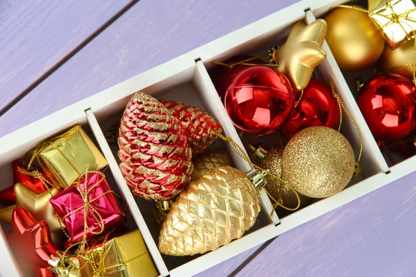
<path fill-rule="evenodd" d="M 166 200 L 191 179 L 192 150 L 187 136 L 164 105 L 137 92 L 125 107 L 119 129 L 120 169 L 133 193 Z"/>

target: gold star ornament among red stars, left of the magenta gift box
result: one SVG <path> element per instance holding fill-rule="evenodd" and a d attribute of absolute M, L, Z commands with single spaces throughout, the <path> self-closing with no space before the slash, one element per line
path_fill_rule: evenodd
<path fill-rule="evenodd" d="M 49 224 L 52 240 L 55 244 L 58 244 L 60 242 L 62 228 L 55 210 L 51 203 L 49 203 L 49 199 L 57 193 L 58 190 L 56 188 L 50 188 L 38 195 L 27 186 L 24 186 L 24 184 L 17 183 L 15 184 L 16 205 L 0 209 L 0 220 L 11 224 L 13 210 L 16 207 L 24 208 L 33 215 L 35 220 L 44 220 Z"/>

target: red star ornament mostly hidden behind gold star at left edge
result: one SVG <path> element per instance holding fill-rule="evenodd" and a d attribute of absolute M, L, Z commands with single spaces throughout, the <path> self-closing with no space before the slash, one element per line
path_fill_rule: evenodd
<path fill-rule="evenodd" d="M 40 179 L 24 175 L 19 172 L 19 168 L 24 166 L 19 161 L 12 161 L 12 170 L 13 170 L 13 183 L 21 183 L 33 190 L 35 193 L 40 194 L 46 191 L 46 188 Z M 41 171 L 42 175 L 43 172 Z M 46 177 L 46 175 L 44 175 Z M 15 195 L 15 186 L 10 186 L 0 191 L 0 202 L 4 204 L 15 204 L 16 195 Z"/>

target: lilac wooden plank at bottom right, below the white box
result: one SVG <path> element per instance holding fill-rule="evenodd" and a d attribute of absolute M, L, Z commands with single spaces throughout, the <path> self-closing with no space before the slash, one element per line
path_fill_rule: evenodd
<path fill-rule="evenodd" d="M 415 178 L 280 235 L 236 276 L 416 276 Z"/>

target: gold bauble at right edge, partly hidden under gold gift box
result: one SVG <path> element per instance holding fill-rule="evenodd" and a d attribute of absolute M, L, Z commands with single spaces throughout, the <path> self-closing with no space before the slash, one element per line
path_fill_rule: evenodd
<path fill-rule="evenodd" d="M 380 69 L 383 73 L 402 75 L 410 80 L 413 79 L 413 48 L 415 40 L 406 42 L 399 48 L 392 50 L 385 47 L 380 57 Z"/>

